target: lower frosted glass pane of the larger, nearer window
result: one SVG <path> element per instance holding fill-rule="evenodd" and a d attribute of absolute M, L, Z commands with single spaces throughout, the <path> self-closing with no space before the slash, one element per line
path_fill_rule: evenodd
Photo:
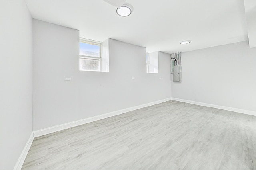
<path fill-rule="evenodd" d="M 100 71 L 100 60 L 80 58 L 79 67 L 80 71 Z"/>

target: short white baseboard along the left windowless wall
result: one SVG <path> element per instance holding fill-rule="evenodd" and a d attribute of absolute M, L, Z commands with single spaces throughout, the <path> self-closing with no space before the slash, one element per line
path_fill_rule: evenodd
<path fill-rule="evenodd" d="M 21 170 L 33 140 L 34 140 L 34 136 L 33 136 L 33 133 L 31 133 L 30 137 L 28 138 L 28 142 L 26 143 L 24 149 L 20 154 L 20 157 L 18 158 L 16 165 L 13 168 L 14 170 Z"/>

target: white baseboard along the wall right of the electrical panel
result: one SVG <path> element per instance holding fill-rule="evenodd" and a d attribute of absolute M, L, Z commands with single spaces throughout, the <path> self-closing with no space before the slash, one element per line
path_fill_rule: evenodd
<path fill-rule="evenodd" d="M 234 107 L 219 106 L 219 105 L 215 105 L 215 104 L 195 102 L 195 101 L 179 99 L 179 98 L 172 98 L 172 100 L 176 100 L 176 101 L 179 101 L 179 102 L 190 103 L 190 104 L 196 104 L 196 105 L 200 105 L 200 106 L 213 107 L 213 108 L 216 108 L 216 109 L 234 111 L 234 112 L 243 113 L 243 114 L 246 114 L 246 115 L 256 116 L 256 111 L 238 109 L 238 108 L 234 108 Z"/>

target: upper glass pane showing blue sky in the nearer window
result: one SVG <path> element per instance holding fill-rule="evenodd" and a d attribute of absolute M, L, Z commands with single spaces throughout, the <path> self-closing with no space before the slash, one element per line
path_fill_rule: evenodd
<path fill-rule="evenodd" d="M 86 55 L 91 57 L 100 57 L 100 45 L 79 43 L 80 55 Z"/>

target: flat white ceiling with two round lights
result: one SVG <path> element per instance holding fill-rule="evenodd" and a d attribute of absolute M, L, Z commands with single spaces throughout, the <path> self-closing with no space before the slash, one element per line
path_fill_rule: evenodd
<path fill-rule="evenodd" d="M 33 18 L 80 30 L 80 37 L 112 38 L 148 52 L 184 52 L 247 40 L 243 0 L 126 0 L 128 17 L 103 0 L 26 0 Z M 184 40 L 191 43 L 181 45 Z"/>

